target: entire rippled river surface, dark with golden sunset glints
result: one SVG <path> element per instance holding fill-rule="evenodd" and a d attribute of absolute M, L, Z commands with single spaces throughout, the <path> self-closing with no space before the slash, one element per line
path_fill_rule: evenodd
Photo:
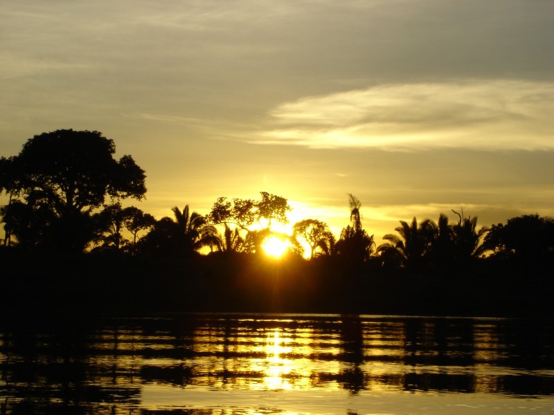
<path fill-rule="evenodd" d="M 554 323 L 172 315 L 0 324 L 0 414 L 554 414 Z"/>

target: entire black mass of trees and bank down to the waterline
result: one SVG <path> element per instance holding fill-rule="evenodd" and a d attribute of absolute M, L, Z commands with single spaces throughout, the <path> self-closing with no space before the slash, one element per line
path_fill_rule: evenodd
<path fill-rule="evenodd" d="M 1 158 L 4 311 L 550 313 L 553 219 L 479 228 L 453 211 L 454 222 L 400 221 L 376 246 L 352 194 L 336 238 L 318 219 L 274 232 L 291 208 L 261 192 L 156 220 L 123 207 L 145 196 L 145 172 L 114 153 L 97 131 L 58 130 Z M 288 243 L 280 261 L 262 255 L 270 238 Z"/>

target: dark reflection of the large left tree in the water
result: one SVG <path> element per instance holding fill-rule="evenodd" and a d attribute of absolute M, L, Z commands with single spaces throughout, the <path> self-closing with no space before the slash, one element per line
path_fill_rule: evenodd
<path fill-rule="evenodd" d="M 125 356 L 114 338 L 109 344 L 105 333 L 91 335 L 76 321 L 47 329 L 29 323 L 1 331 L 3 413 L 109 413 L 114 401 L 139 402 L 140 384 L 119 367 Z"/>

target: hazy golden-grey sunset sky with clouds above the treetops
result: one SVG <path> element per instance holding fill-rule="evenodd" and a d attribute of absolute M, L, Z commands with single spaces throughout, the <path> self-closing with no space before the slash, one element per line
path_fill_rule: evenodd
<path fill-rule="evenodd" d="M 338 237 L 554 216 L 552 0 L 0 3 L 0 155 L 100 131 L 158 219 L 283 196 Z"/>

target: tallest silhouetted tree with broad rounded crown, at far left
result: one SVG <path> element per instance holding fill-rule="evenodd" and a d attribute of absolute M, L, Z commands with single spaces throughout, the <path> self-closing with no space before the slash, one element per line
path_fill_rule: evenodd
<path fill-rule="evenodd" d="M 53 214 L 45 224 L 48 243 L 81 251 L 93 237 L 94 208 L 107 197 L 140 200 L 145 195 L 143 169 L 131 156 L 117 160 L 115 152 L 114 140 L 98 131 L 42 133 L 30 138 L 19 155 L 1 158 L 0 190 L 10 202 L 47 207 Z"/>

